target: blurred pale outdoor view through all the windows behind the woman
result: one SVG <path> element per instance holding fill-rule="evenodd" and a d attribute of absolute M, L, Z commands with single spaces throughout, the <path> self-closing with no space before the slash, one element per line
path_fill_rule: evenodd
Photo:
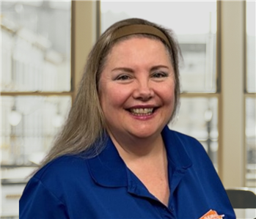
<path fill-rule="evenodd" d="M 246 3 L 246 186 L 255 186 L 255 2 Z M 1 218 L 18 218 L 25 177 L 71 105 L 70 7 L 71 0 L 1 2 Z M 218 170 L 216 1 L 188 1 L 186 7 L 178 1 L 101 1 L 100 10 L 101 31 L 132 17 L 175 31 L 183 94 L 180 114 L 169 126 L 200 140 Z"/>

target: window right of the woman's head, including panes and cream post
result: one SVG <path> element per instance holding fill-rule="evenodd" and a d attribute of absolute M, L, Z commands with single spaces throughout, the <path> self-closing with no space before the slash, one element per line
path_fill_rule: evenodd
<path fill-rule="evenodd" d="M 133 17 L 180 43 L 180 114 L 169 126 L 200 140 L 226 187 L 255 186 L 255 1 L 100 1 L 101 32 Z"/>

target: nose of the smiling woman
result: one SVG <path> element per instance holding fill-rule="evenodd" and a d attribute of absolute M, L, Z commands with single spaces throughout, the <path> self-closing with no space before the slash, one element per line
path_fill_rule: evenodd
<path fill-rule="evenodd" d="M 147 79 L 138 80 L 134 90 L 134 98 L 142 101 L 150 100 L 154 96 L 153 88 Z"/>

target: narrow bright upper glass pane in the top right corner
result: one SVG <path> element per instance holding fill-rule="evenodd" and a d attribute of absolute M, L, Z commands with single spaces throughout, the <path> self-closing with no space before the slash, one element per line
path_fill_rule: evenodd
<path fill-rule="evenodd" d="M 246 68 L 247 92 L 256 92 L 256 2 L 246 1 Z"/>

